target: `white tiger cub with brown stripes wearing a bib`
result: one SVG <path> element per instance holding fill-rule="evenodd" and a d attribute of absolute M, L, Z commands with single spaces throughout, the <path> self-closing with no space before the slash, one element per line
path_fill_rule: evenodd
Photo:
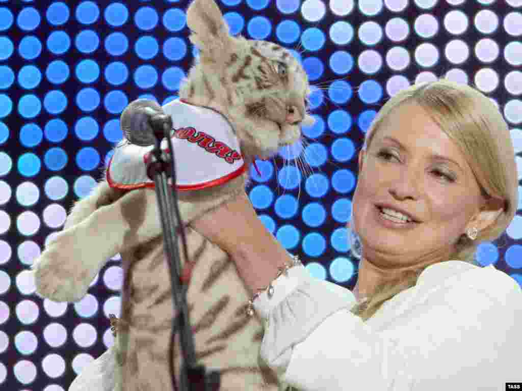
<path fill-rule="evenodd" d="M 177 145 L 183 143 L 199 151 L 197 156 L 205 156 L 202 159 L 217 156 L 221 163 L 239 166 L 224 176 L 206 172 L 213 164 L 200 163 L 197 172 L 180 170 L 188 184 L 179 188 L 185 224 L 242 193 L 247 178 L 244 167 L 250 167 L 255 157 L 268 157 L 281 145 L 297 141 L 300 126 L 313 123 L 305 104 L 310 85 L 289 51 L 231 36 L 213 0 L 195 0 L 187 9 L 187 25 L 192 31 L 189 39 L 199 48 L 199 62 L 180 89 L 181 100 L 163 107 L 165 113 L 176 113 L 172 117 L 176 166 L 180 167 Z M 161 112 L 154 103 L 137 101 L 125 109 L 122 124 L 144 104 L 153 108 L 152 113 Z M 210 126 L 201 136 L 191 125 L 196 119 L 183 114 L 191 111 L 197 120 L 206 118 L 212 125 L 221 121 L 216 125 L 221 130 L 214 134 Z M 236 149 L 230 144 L 234 142 Z M 174 314 L 156 194 L 139 172 L 146 152 L 147 148 L 136 145 L 118 145 L 108 180 L 75 204 L 64 230 L 33 264 L 41 296 L 77 301 L 106 260 L 122 255 L 122 311 L 115 344 L 80 373 L 69 390 L 171 389 L 166 348 Z M 117 156 L 120 160 L 115 162 Z M 197 165 L 199 157 L 194 156 L 188 154 L 193 157 L 191 164 Z M 203 182 L 192 183 L 200 170 L 203 176 L 198 180 Z M 221 389 L 277 389 L 274 375 L 257 362 L 262 326 L 245 314 L 249 297 L 235 266 L 192 229 L 188 229 L 188 244 L 195 266 L 187 301 L 198 362 L 220 371 Z M 179 358 L 178 345 L 176 369 Z"/>

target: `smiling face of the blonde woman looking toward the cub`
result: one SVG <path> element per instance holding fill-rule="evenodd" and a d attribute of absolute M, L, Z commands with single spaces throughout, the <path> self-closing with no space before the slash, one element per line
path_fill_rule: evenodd
<path fill-rule="evenodd" d="M 484 203 L 464 155 L 416 104 L 402 104 L 375 131 L 359 154 L 353 195 L 352 224 L 363 258 L 383 268 L 448 260 Z M 378 203 L 394 205 L 418 223 L 390 226 Z"/>

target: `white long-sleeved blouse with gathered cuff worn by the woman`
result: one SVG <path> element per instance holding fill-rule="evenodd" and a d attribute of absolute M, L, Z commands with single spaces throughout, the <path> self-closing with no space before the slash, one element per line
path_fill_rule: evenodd
<path fill-rule="evenodd" d="M 301 391 L 504 390 L 522 382 L 522 289 L 493 265 L 430 265 L 366 322 L 346 288 L 303 266 L 254 308 L 260 356 Z"/>

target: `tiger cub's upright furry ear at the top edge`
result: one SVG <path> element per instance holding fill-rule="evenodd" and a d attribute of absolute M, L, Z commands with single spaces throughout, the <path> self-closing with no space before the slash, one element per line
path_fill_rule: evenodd
<path fill-rule="evenodd" d="M 217 60 L 230 51 L 232 37 L 227 22 L 214 0 L 194 0 L 187 9 L 189 39 L 200 56 Z"/>

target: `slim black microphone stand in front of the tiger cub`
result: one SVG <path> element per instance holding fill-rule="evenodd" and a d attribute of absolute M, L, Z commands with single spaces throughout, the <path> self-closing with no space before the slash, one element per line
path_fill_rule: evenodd
<path fill-rule="evenodd" d="M 177 201 L 175 195 L 175 165 L 174 151 L 170 140 L 172 129 L 172 118 L 170 116 L 159 116 L 152 118 L 149 123 L 154 133 L 154 149 L 150 153 L 147 161 L 147 175 L 155 182 L 156 196 L 159 206 L 161 226 L 163 229 L 164 250 L 167 256 L 167 263 L 170 269 L 172 296 L 174 313 L 178 311 L 177 317 L 172 321 L 172 335 L 169 352 L 169 366 L 172 377 L 173 390 L 177 390 L 173 368 L 173 344 L 174 335 L 177 329 L 180 330 L 180 340 L 183 354 L 183 364 L 181 369 L 181 390 L 182 391 L 218 391 L 221 383 L 219 371 L 210 371 L 206 374 L 205 365 L 196 365 L 196 353 L 194 349 L 194 336 L 188 319 L 188 307 L 186 292 L 188 283 L 183 284 L 181 280 L 181 262 L 179 248 L 177 246 L 176 226 L 183 229 L 183 222 L 179 220 L 177 211 Z M 170 156 L 161 151 L 161 141 L 167 138 L 170 145 Z M 169 164 L 170 163 L 170 164 Z M 168 176 L 170 174 L 172 187 L 169 186 Z M 174 193 L 174 194 L 173 194 Z M 175 197 L 177 200 L 177 197 Z M 177 213 L 176 213 L 177 212 Z M 177 224 L 176 224 L 177 223 Z M 183 235 L 182 235 L 183 236 Z M 184 236 L 183 236 L 184 238 Z M 184 243 L 185 245 L 185 243 Z M 186 249 L 185 249 L 186 250 Z M 188 259 L 187 259 L 188 262 Z M 177 320 L 177 326 L 176 326 Z"/>

